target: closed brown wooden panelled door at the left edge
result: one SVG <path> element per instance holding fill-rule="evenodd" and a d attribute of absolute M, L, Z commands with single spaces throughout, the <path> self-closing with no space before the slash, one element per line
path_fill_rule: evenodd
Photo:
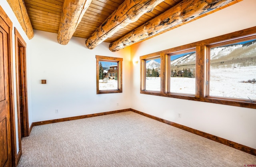
<path fill-rule="evenodd" d="M 8 72 L 8 25 L 0 18 L 0 167 L 12 166 Z"/>

